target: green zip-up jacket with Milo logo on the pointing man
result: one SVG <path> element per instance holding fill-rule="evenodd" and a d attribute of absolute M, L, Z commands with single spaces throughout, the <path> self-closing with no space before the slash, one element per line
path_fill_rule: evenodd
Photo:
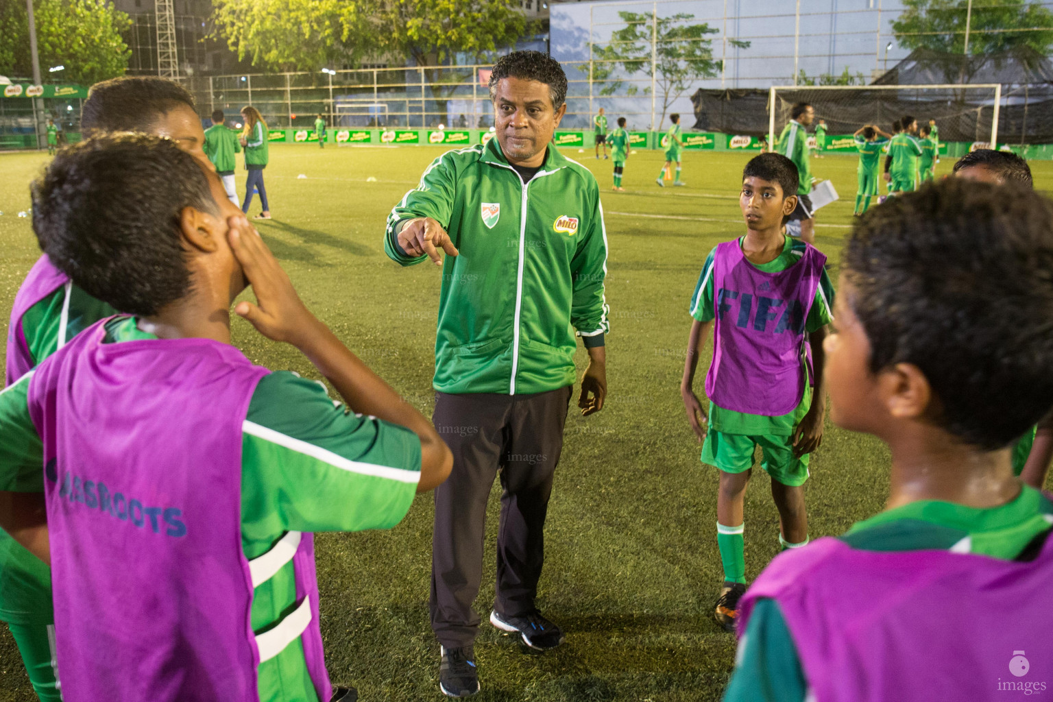
<path fill-rule="evenodd" d="M 438 221 L 460 252 L 442 265 L 435 389 L 517 395 L 574 384 L 575 330 L 610 328 L 593 175 L 550 145 L 524 184 L 491 139 L 437 158 L 392 209 L 384 252 L 402 265 L 429 260 L 398 247 L 398 223 L 415 217 Z"/>

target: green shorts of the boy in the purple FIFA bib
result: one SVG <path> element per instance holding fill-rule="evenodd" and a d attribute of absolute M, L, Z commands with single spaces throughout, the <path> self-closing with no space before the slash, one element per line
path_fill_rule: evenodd
<path fill-rule="evenodd" d="M 711 428 L 706 433 L 706 442 L 702 444 L 702 463 L 715 465 L 724 473 L 744 473 L 753 467 L 754 448 L 760 446 L 760 467 L 772 480 L 796 487 L 808 480 L 811 456 L 794 456 L 791 442 L 792 437 L 767 434 L 749 437 Z"/>

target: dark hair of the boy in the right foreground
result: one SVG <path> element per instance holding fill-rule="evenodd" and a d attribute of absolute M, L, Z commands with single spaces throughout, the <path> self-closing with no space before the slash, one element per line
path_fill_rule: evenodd
<path fill-rule="evenodd" d="M 1053 404 L 1053 203 L 1019 185 L 948 178 L 889 198 L 841 255 L 870 368 L 911 363 L 929 421 L 985 450 Z"/>

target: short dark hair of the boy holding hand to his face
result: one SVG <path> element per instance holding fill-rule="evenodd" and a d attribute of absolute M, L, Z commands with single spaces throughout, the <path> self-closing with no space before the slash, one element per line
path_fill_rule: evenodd
<path fill-rule="evenodd" d="M 32 190 L 33 229 L 52 263 L 92 297 L 140 316 L 190 289 L 183 208 L 219 213 L 194 157 L 146 134 L 68 146 Z"/>

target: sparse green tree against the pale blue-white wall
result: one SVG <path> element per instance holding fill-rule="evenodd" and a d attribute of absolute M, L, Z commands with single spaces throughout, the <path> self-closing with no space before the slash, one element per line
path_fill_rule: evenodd
<path fill-rule="evenodd" d="M 625 82 L 623 78 L 612 80 L 617 66 L 627 75 L 645 72 L 651 77 L 652 40 L 654 43 L 654 79 L 656 94 L 661 95 L 661 124 L 665 112 L 673 102 L 683 95 L 692 82 L 703 78 L 715 78 L 723 67 L 722 61 L 713 58 L 713 40 L 708 35 L 719 31 L 707 23 L 686 24 L 695 19 L 694 15 L 679 13 L 669 17 L 655 18 L 645 13 L 619 12 L 625 26 L 611 35 L 607 46 L 593 47 L 592 65 L 579 66 L 583 73 L 592 72 L 593 83 L 600 83 L 600 95 L 614 95 Z M 750 42 L 729 39 L 728 43 L 738 48 L 749 48 Z M 630 85 L 627 95 L 640 93 Z M 651 87 L 644 87 L 644 95 Z"/>

